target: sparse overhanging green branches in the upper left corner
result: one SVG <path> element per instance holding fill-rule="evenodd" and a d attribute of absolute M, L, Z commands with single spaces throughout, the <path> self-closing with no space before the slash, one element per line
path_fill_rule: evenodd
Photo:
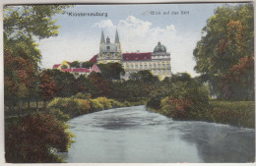
<path fill-rule="evenodd" d="M 52 17 L 63 13 L 67 5 L 23 5 L 4 8 L 4 31 L 8 36 L 56 36 L 59 26 Z M 36 26 L 34 26 L 36 25 Z"/>

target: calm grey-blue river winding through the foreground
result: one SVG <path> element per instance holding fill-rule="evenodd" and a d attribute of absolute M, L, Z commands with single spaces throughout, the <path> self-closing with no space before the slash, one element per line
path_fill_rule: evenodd
<path fill-rule="evenodd" d="M 104 110 L 69 121 L 69 163 L 253 162 L 255 131 L 173 121 L 145 106 Z"/>

